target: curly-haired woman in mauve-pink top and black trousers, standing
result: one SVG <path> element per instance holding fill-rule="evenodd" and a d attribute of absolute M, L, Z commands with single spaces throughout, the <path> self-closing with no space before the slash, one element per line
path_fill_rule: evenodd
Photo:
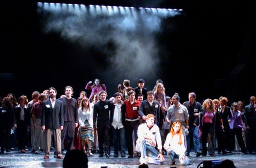
<path fill-rule="evenodd" d="M 212 99 L 207 98 L 203 103 L 203 117 L 200 123 L 199 129 L 202 131 L 202 146 L 203 146 L 203 156 L 207 154 L 207 139 L 209 155 L 214 155 L 214 127 L 215 127 L 215 110 Z M 208 137 L 208 138 L 207 138 Z"/>

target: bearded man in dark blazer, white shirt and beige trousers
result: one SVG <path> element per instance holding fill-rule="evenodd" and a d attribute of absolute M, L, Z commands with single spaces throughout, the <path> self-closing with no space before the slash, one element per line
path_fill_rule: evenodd
<path fill-rule="evenodd" d="M 55 155 L 54 157 L 63 158 L 61 154 L 61 130 L 63 129 L 63 103 L 56 98 L 57 90 L 49 88 L 50 98 L 42 103 L 41 128 L 44 132 L 45 156 L 50 156 L 51 137 L 53 131 Z"/>

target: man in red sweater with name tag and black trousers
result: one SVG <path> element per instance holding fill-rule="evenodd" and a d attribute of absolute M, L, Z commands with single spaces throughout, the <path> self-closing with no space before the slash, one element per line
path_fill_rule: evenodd
<path fill-rule="evenodd" d="M 128 144 L 128 157 L 133 157 L 133 144 L 132 144 L 132 132 L 135 133 L 135 140 L 138 139 L 137 131 L 139 127 L 139 108 L 140 102 L 135 99 L 135 91 L 131 90 L 128 93 L 127 100 L 124 100 L 124 112 L 125 112 L 125 123 L 126 123 L 126 136 L 127 136 L 127 144 Z M 137 155 L 137 154 L 135 154 Z"/>

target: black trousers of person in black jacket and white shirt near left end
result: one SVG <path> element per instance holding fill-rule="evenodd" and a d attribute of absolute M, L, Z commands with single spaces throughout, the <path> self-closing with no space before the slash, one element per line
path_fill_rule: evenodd
<path fill-rule="evenodd" d="M 18 147 L 19 150 L 25 150 L 26 144 L 27 144 L 27 125 L 26 122 L 23 120 L 20 120 L 17 123 L 17 138 L 18 138 Z"/>

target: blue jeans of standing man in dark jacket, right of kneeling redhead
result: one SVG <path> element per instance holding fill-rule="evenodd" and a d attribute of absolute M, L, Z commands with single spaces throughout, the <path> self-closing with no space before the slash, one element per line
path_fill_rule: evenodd
<path fill-rule="evenodd" d="M 190 153 L 190 136 L 193 135 L 193 142 L 194 142 L 194 149 L 195 152 L 200 152 L 200 140 L 199 140 L 199 131 L 198 131 L 198 126 L 196 125 L 191 125 L 189 127 L 189 133 L 187 135 L 187 150 L 186 152 L 189 154 Z"/>

